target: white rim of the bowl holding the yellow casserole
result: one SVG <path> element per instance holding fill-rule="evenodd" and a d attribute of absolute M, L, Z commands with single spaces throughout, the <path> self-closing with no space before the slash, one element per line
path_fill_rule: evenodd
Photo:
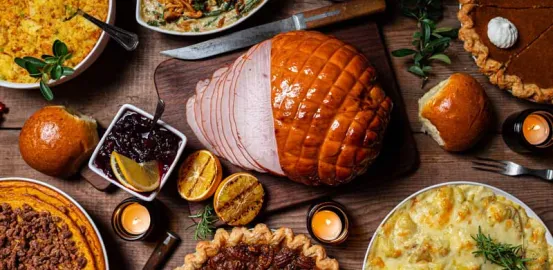
<path fill-rule="evenodd" d="M 115 22 L 115 0 L 109 0 L 108 5 L 108 14 L 106 17 L 106 23 L 113 24 Z M 92 48 L 92 50 L 88 53 L 88 55 L 78 64 L 75 66 L 75 73 L 73 73 L 70 76 L 64 76 L 61 79 L 57 81 L 51 81 L 48 85 L 50 86 L 56 86 L 58 84 L 64 83 L 66 81 L 71 80 L 72 78 L 77 77 L 79 74 L 81 74 L 83 71 L 85 71 L 98 57 L 104 49 L 106 48 L 106 45 L 108 44 L 109 36 L 106 34 L 106 32 L 103 32 L 100 34 L 100 38 L 98 41 L 96 41 L 96 45 Z M 0 80 L 0 87 L 7 87 L 12 89 L 38 89 L 39 83 L 13 83 L 8 81 L 2 81 Z"/>

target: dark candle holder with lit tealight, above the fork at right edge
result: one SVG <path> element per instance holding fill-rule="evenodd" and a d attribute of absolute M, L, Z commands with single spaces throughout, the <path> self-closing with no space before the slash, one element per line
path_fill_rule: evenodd
<path fill-rule="evenodd" d="M 528 109 L 510 115 L 503 122 L 503 140 L 518 153 L 544 153 L 553 146 L 553 113 Z"/>

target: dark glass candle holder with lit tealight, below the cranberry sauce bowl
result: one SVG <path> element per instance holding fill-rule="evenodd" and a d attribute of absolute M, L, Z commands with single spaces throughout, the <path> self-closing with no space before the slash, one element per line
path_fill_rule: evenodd
<path fill-rule="evenodd" d="M 158 213 L 155 202 L 127 198 L 113 211 L 111 225 L 115 233 L 124 240 L 144 240 L 154 230 Z"/>

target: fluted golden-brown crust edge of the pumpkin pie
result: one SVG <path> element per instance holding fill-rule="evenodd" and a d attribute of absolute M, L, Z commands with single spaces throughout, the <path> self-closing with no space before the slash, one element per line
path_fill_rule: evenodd
<path fill-rule="evenodd" d="M 507 63 L 504 63 L 490 57 L 489 48 L 485 45 L 474 27 L 475 22 L 473 21 L 471 12 L 479 7 L 478 1 L 459 0 L 459 3 L 461 4 L 461 8 L 458 13 L 458 19 L 462 25 L 459 30 L 459 39 L 464 41 L 465 50 L 472 53 L 476 64 L 480 67 L 481 72 L 489 77 L 490 82 L 499 86 L 501 89 L 510 90 L 511 93 L 518 98 L 540 103 L 553 103 L 553 86 L 542 88 L 534 83 L 525 83 L 521 77 L 506 72 L 507 66 L 512 58 L 525 52 L 532 46 L 534 41 L 540 39 L 547 31 L 553 31 L 553 23 L 522 51 L 515 53 Z M 546 60 L 547 59 L 544 59 L 544 61 Z"/>

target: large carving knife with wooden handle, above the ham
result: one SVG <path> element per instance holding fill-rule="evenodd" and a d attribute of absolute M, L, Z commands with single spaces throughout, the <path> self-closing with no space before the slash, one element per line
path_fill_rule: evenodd
<path fill-rule="evenodd" d="M 203 59 L 255 45 L 279 33 L 323 27 L 382 12 L 385 9 L 385 0 L 352 0 L 298 13 L 284 20 L 252 27 L 188 47 L 163 51 L 161 54 L 183 60 Z"/>

